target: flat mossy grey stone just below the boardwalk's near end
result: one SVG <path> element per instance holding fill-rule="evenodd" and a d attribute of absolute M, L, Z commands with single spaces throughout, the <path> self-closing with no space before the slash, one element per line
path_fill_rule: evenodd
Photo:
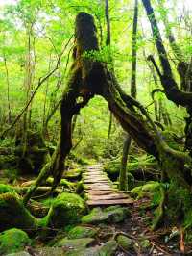
<path fill-rule="evenodd" d="M 130 216 L 128 208 L 121 206 L 110 206 L 104 210 L 100 207 L 94 208 L 89 215 L 82 218 L 83 223 L 98 224 L 101 222 L 119 223 Z"/>

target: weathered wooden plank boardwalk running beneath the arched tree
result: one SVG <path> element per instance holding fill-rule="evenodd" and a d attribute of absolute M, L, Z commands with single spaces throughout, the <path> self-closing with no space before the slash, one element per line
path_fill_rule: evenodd
<path fill-rule="evenodd" d="M 84 190 L 89 206 L 132 204 L 128 194 L 119 192 L 108 179 L 101 165 L 84 166 Z"/>

